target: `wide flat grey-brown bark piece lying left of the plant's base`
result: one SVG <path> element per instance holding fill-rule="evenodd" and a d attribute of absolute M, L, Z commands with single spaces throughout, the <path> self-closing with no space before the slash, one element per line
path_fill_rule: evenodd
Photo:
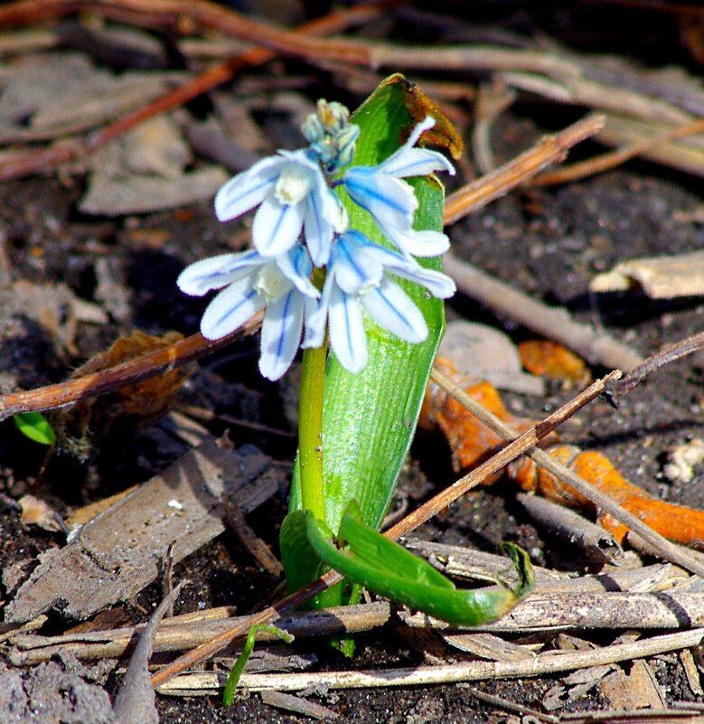
<path fill-rule="evenodd" d="M 189 451 L 101 512 L 64 548 L 42 554 L 6 607 L 5 621 L 28 621 L 52 607 L 84 618 L 134 597 L 157 577 L 172 543 L 178 562 L 224 530 L 223 494 L 245 513 L 274 494 L 272 476 L 258 480 L 268 461 L 256 449 L 221 449 L 214 440 Z"/>

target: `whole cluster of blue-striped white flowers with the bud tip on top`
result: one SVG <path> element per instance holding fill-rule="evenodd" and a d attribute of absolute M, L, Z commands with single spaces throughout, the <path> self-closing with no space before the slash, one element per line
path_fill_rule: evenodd
<path fill-rule="evenodd" d="M 220 339 L 266 307 L 259 370 L 270 380 L 284 374 L 299 346 L 323 344 L 326 331 L 343 366 L 360 371 L 368 356 L 362 309 L 401 339 L 424 340 L 423 315 L 393 277 L 439 298 L 455 292 L 450 277 L 414 259 L 441 254 L 449 244 L 443 233 L 413 229 L 418 200 L 403 181 L 436 171 L 455 173 L 445 156 L 416 147 L 433 125 L 432 118 L 419 123 L 379 165 L 341 171 L 352 162 L 360 129 L 343 105 L 319 100 L 302 127 L 309 146 L 279 151 L 225 183 L 215 197 L 215 214 L 230 221 L 258 207 L 254 249 L 202 259 L 178 277 L 179 288 L 192 296 L 221 289 L 202 317 L 203 336 Z M 371 214 L 398 250 L 350 228 L 336 186 Z M 314 268 L 324 269 L 322 289 L 311 280 Z"/>

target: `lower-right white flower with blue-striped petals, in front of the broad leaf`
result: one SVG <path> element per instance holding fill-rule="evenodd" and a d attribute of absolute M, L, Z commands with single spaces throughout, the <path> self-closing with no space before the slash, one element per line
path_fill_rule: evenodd
<path fill-rule="evenodd" d="M 443 299 L 455 293 L 455 283 L 445 274 L 423 268 L 414 259 L 374 244 L 360 231 L 349 230 L 333 246 L 323 294 L 315 310 L 305 317 L 302 346 L 320 346 L 327 323 L 330 344 L 340 363 L 346 370 L 360 371 L 368 359 L 362 307 L 391 334 L 406 342 L 422 342 L 427 337 L 426 321 L 389 274 L 426 287 Z"/>

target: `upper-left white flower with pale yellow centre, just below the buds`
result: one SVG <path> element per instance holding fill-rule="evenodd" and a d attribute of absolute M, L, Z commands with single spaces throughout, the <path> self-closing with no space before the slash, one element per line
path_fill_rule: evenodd
<path fill-rule="evenodd" d="M 262 257 L 292 249 L 301 231 L 316 267 L 330 256 L 340 202 L 305 150 L 279 151 L 237 174 L 215 196 L 215 215 L 230 221 L 258 206 L 252 243 Z"/>

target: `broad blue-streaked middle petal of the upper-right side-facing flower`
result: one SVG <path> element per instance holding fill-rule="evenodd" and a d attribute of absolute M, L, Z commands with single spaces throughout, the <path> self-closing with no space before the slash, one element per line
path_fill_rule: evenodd
<path fill-rule="evenodd" d="M 368 166 L 355 166 L 344 174 L 343 184 L 352 201 L 370 212 L 380 226 L 410 228 L 418 199 L 405 181 Z"/>

